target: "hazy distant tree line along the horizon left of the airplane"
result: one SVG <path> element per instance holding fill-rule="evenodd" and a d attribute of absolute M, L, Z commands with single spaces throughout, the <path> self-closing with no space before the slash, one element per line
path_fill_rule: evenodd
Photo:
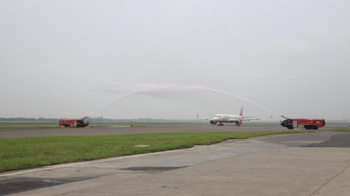
<path fill-rule="evenodd" d="M 84 117 L 77 118 L 77 119 L 83 119 Z M 22 117 L 13 117 L 13 118 L 0 118 L 0 121 L 52 121 L 52 122 L 58 122 L 59 120 L 68 120 L 69 118 L 22 118 Z M 72 118 L 70 118 L 72 119 Z M 152 118 L 138 118 L 138 119 L 105 119 L 102 116 L 91 118 L 87 117 L 85 119 L 86 121 L 90 122 L 204 122 L 204 120 L 198 119 L 198 120 L 190 120 L 190 119 L 152 119 Z"/>

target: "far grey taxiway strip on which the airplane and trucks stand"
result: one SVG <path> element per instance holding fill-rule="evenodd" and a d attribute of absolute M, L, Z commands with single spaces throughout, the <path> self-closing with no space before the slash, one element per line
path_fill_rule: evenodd
<path fill-rule="evenodd" d="M 327 123 L 320 130 L 349 128 L 346 123 Z M 96 136 L 141 133 L 182 133 L 182 132 L 220 132 L 220 131 L 283 131 L 288 130 L 278 123 L 254 123 L 241 126 L 216 125 L 174 125 L 148 127 L 103 127 L 103 128 L 49 128 L 49 129 L 2 129 L 0 138 L 47 137 L 47 136 Z"/>

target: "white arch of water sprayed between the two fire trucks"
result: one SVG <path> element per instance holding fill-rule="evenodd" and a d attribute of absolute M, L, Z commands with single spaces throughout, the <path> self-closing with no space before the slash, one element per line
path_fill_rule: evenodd
<path fill-rule="evenodd" d="M 116 85 L 118 85 L 118 84 L 116 84 Z M 113 101 L 111 101 L 111 102 L 105 104 L 104 106 L 98 108 L 97 110 L 93 111 L 93 112 L 92 112 L 91 114 L 89 114 L 88 116 L 90 116 L 90 115 L 94 114 L 95 112 L 101 110 L 102 108 L 104 108 L 104 107 L 106 107 L 106 106 L 108 106 L 108 105 L 110 105 L 110 104 L 112 104 L 112 103 L 118 101 L 119 99 L 122 99 L 122 98 L 125 98 L 125 97 L 128 97 L 128 96 L 131 96 L 131 95 L 133 95 L 133 94 L 137 95 L 137 94 L 139 94 L 139 93 L 144 93 L 144 92 L 148 92 L 148 91 L 161 91 L 161 90 L 167 90 L 167 89 L 170 90 L 170 88 L 175 88 L 176 90 L 194 90 L 194 89 L 202 89 L 202 90 L 209 90 L 209 91 L 219 92 L 219 93 L 223 93 L 223 94 L 226 94 L 226 95 L 230 95 L 230 96 L 233 96 L 233 97 L 242 99 L 242 100 L 247 101 L 247 102 L 249 102 L 249 103 L 252 103 L 252 104 L 254 104 L 254 105 L 256 105 L 256 106 L 259 106 L 259 107 L 261 107 L 261 108 L 264 108 L 265 110 L 268 110 L 268 111 L 270 111 L 270 112 L 273 112 L 273 113 L 275 113 L 275 114 L 278 114 L 278 115 L 282 116 L 281 114 L 279 114 L 279 113 L 277 113 L 277 112 L 275 112 L 275 111 L 272 111 L 272 110 L 270 110 L 270 109 L 268 109 L 268 108 L 266 108 L 266 107 L 264 107 L 264 106 L 261 106 L 261 105 L 259 105 L 259 104 L 257 104 L 257 103 L 254 103 L 253 101 L 250 101 L 250 100 L 248 100 L 248 99 L 239 97 L 239 96 L 237 96 L 237 95 L 233 95 L 233 94 L 228 93 L 228 92 L 225 92 L 225 91 L 216 90 L 216 89 L 211 89 L 211 88 L 204 87 L 204 86 L 194 86 L 194 85 L 187 85 L 187 86 L 186 86 L 186 85 L 178 85 L 178 84 L 163 84 L 163 85 L 160 85 L 160 84 L 130 84 L 130 85 L 132 85 L 133 88 L 138 87 L 139 89 L 142 89 L 142 90 L 133 91 L 133 92 L 130 92 L 130 93 L 124 95 L 124 96 L 121 96 L 121 97 L 119 97 L 119 98 L 117 98 L 117 99 L 115 99 L 115 100 L 113 100 Z M 125 84 L 123 85 L 123 87 L 125 87 Z M 136 89 L 137 89 L 137 88 L 136 88 Z M 284 117 L 284 116 L 282 116 L 282 117 L 283 117 L 283 118 L 286 118 L 286 117 Z"/>

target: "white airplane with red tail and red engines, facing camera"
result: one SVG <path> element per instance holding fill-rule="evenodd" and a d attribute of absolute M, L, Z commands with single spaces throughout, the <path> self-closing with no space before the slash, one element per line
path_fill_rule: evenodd
<path fill-rule="evenodd" d="M 259 120 L 259 119 L 271 119 L 272 114 L 269 118 L 256 118 L 256 119 L 249 119 L 253 118 L 255 116 L 248 116 L 248 117 L 243 117 L 243 106 L 241 106 L 241 109 L 239 111 L 238 115 L 232 115 L 232 114 L 216 114 L 213 119 L 206 118 L 205 120 L 210 120 L 210 124 L 216 125 L 218 123 L 218 126 L 224 126 L 223 122 L 227 123 L 235 123 L 236 126 L 240 126 L 242 124 L 243 120 Z M 198 114 L 197 114 L 198 118 Z M 203 118 L 198 118 L 198 119 L 203 119 Z"/>

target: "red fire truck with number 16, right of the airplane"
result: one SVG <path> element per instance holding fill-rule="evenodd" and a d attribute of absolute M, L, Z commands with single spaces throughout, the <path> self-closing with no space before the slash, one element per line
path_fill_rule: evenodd
<path fill-rule="evenodd" d="M 288 129 L 305 128 L 305 129 L 318 129 L 325 125 L 324 119 L 287 119 L 280 121 L 282 127 Z"/>

